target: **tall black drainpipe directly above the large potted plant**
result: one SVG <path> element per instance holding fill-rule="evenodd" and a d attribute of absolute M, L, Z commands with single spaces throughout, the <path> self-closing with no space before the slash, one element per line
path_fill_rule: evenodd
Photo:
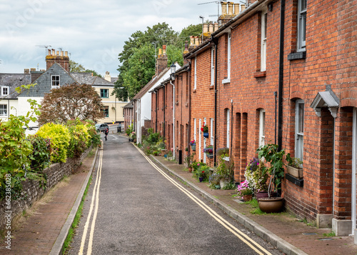
<path fill-rule="evenodd" d="M 281 0 L 280 8 L 280 42 L 279 42 L 279 78 L 278 78 L 278 151 L 283 145 L 283 71 L 284 71 L 284 26 L 285 0 Z"/>

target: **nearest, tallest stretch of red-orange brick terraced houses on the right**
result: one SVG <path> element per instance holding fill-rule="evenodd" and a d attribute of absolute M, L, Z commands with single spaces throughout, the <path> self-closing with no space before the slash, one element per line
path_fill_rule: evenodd
<path fill-rule="evenodd" d="M 286 208 L 337 236 L 356 229 L 356 4 L 255 1 L 185 55 L 196 160 L 229 146 L 239 182 L 258 146 L 278 144 L 303 160 L 302 178 L 283 179 Z"/>

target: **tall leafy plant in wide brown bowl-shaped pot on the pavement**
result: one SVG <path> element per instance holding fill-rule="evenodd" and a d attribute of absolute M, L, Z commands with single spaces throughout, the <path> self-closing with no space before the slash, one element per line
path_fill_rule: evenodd
<path fill-rule="evenodd" d="M 278 145 L 276 144 L 260 146 L 256 151 L 258 152 L 259 159 L 263 158 L 270 164 L 268 168 L 268 173 L 270 174 L 268 198 L 259 199 L 259 208 L 261 211 L 268 213 L 279 212 L 283 209 L 283 198 L 280 196 L 271 197 L 271 192 L 278 192 L 281 189 L 281 179 L 284 176 L 283 156 L 285 155 L 285 151 L 283 149 L 278 151 Z"/>

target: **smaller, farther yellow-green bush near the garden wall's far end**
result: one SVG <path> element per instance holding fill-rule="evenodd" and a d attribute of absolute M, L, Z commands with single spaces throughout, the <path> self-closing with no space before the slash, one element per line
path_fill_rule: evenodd
<path fill-rule="evenodd" d="M 66 126 L 71 135 L 67 156 L 71 158 L 81 156 L 91 144 L 91 136 L 89 136 L 88 129 L 85 123 L 79 119 L 67 121 Z"/>

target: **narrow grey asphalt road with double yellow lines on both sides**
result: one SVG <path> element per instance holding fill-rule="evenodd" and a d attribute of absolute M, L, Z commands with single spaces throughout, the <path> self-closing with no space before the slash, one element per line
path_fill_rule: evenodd
<path fill-rule="evenodd" d="M 69 254 L 281 254 L 128 139 L 109 134 L 102 152 Z"/>

